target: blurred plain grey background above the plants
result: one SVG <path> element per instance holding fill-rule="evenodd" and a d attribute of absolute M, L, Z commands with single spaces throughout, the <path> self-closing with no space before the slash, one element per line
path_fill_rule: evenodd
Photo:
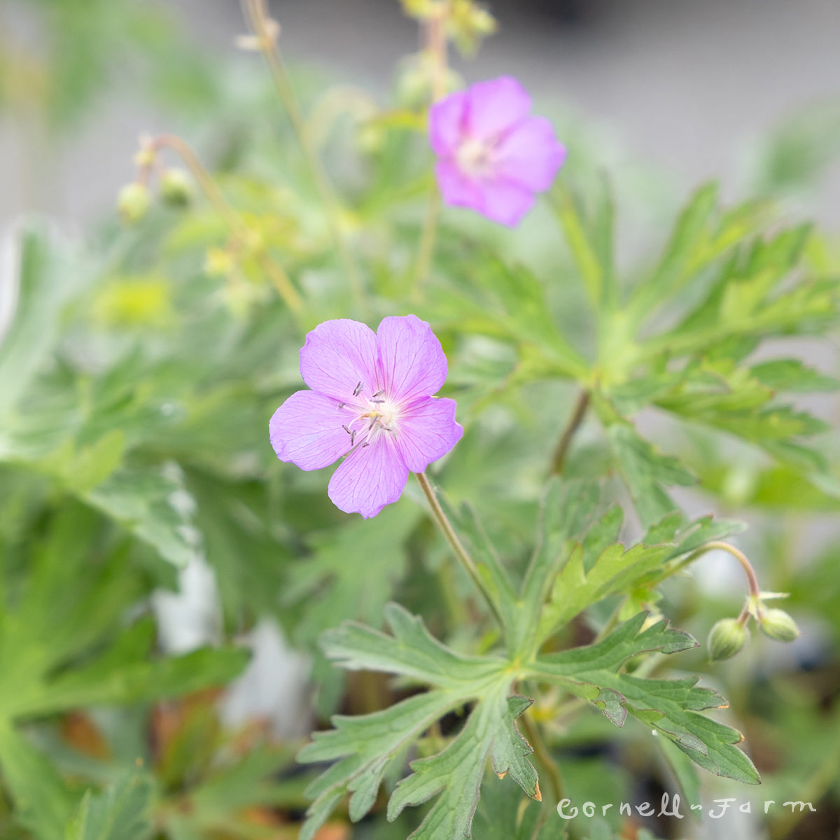
<path fill-rule="evenodd" d="M 201 49 L 236 59 L 234 36 L 244 31 L 236 0 L 148 2 L 171 12 Z M 27 3 L 32 11 L 38 0 Z M 37 43 L 27 3 L 0 3 L 7 51 L 18 39 Z M 679 192 L 709 176 L 721 177 L 730 196 L 741 191 L 751 153 L 769 130 L 802 109 L 840 100 L 838 0 L 487 5 L 500 30 L 474 61 L 454 60 L 468 81 L 520 77 L 538 100 L 559 102 L 613 143 L 611 165 L 651 161 Z M 417 49 L 416 27 L 396 0 L 277 0 L 271 8 L 292 63 L 326 65 L 337 78 L 380 92 L 396 62 Z M 106 211 L 130 179 L 138 135 L 170 127 L 167 115 L 105 94 L 57 148 L 41 151 L 25 114 L 0 109 L 0 228 L 29 209 L 79 228 Z M 37 177 L 28 174 L 33 169 Z M 824 223 L 840 223 L 837 165 L 808 205 Z"/>

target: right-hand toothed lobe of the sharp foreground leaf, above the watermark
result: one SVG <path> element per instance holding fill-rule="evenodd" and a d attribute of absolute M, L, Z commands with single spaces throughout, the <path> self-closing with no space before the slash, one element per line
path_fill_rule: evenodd
<path fill-rule="evenodd" d="M 594 703 L 618 726 L 630 712 L 713 774 L 758 784 L 759 774 L 752 762 L 734 746 L 743 736 L 699 714 L 726 706 L 716 691 L 697 688 L 696 677 L 646 680 L 616 673 L 622 663 L 639 653 L 659 650 L 672 654 L 697 646 L 695 639 L 669 629 L 665 621 L 643 629 L 645 617 L 639 613 L 599 643 L 538 658 L 531 675 Z"/>

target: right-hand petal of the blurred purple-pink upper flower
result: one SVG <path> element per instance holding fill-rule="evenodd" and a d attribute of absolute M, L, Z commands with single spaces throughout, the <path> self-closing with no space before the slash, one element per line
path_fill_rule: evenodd
<path fill-rule="evenodd" d="M 528 117 L 518 123 L 496 146 L 496 174 L 507 181 L 544 192 L 554 182 L 566 159 L 554 126 L 544 117 Z"/>

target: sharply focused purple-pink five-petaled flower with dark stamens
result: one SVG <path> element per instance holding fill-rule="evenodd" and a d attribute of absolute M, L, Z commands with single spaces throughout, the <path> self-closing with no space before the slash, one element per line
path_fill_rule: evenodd
<path fill-rule="evenodd" d="M 344 457 L 328 495 L 367 519 L 396 501 L 409 470 L 423 472 L 458 443 L 455 401 L 431 396 L 446 356 L 416 315 L 384 318 L 374 333 L 358 321 L 325 321 L 307 335 L 297 391 L 269 423 L 281 461 L 320 470 Z"/>

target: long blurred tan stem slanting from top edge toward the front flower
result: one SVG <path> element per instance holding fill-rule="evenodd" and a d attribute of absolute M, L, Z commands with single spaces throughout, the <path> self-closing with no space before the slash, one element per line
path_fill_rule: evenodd
<path fill-rule="evenodd" d="M 297 98 L 292 90 L 289 76 L 286 73 L 286 65 L 283 63 L 280 50 L 277 47 L 276 35 L 278 30 L 276 25 L 274 29 L 269 25 L 265 0 L 242 0 L 242 5 L 245 17 L 248 19 L 250 27 L 256 36 L 257 45 L 259 45 L 260 52 L 265 60 L 265 66 L 268 67 L 271 80 L 274 82 L 283 108 L 286 109 L 286 114 L 291 122 L 291 128 L 297 136 L 297 142 L 300 144 L 303 156 L 306 158 L 307 165 L 312 172 L 315 188 L 318 190 L 318 195 L 321 197 L 321 201 L 327 210 L 330 234 L 332 234 L 336 249 L 339 252 L 339 259 L 342 265 L 344 265 L 344 271 L 347 273 L 350 292 L 354 297 L 356 306 L 364 308 L 365 295 L 362 289 L 359 270 L 341 227 L 341 208 L 339 207 L 338 199 L 335 197 L 335 192 L 329 182 L 327 173 L 324 171 L 321 160 L 318 158 L 315 146 L 312 144 L 312 138 L 307 130 L 306 120 L 303 117 L 301 107 L 298 105 Z"/>

